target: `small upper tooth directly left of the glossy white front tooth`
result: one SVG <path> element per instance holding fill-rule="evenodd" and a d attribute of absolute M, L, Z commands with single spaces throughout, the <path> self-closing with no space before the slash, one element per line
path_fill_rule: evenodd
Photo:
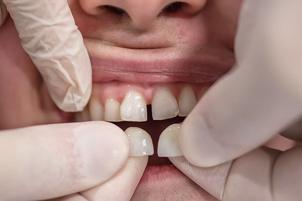
<path fill-rule="evenodd" d="M 117 100 L 112 98 L 107 98 L 105 102 L 105 121 L 108 122 L 120 122 L 120 104 Z"/>

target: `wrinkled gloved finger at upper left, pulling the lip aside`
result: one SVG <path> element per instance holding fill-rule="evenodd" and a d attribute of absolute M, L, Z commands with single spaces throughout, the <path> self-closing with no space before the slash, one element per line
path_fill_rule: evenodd
<path fill-rule="evenodd" d="M 92 69 L 67 1 L 3 2 L 54 103 L 65 112 L 82 111 L 91 95 Z"/>

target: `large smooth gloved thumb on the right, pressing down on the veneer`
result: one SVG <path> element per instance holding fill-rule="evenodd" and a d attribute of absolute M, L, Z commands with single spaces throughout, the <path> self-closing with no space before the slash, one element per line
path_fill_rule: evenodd
<path fill-rule="evenodd" d="M 259 147 L 302 114 L 302 1 L 246 1 L 237 64 L 205 93 L 181 127 L 192 164 L 214 166 Z"/>

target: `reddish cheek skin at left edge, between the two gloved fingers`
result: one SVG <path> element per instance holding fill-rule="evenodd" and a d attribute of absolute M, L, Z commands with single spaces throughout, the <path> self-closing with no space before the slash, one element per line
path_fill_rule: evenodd
<path fill-rule="evenodd" d="M 36 124 L 41 118 L 41 77 L 9 18 L 0 29 L 0 129 Z"/>

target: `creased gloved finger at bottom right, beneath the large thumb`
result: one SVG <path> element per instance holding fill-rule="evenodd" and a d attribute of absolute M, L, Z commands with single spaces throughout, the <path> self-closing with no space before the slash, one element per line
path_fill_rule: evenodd
<path fill-rule="evenodd" d="M 233 162 L 202 168 L 170 157 L 184 174 L 220 200 L 300 200 L 302 147 L 280 153 L 259 148 Z"/>

